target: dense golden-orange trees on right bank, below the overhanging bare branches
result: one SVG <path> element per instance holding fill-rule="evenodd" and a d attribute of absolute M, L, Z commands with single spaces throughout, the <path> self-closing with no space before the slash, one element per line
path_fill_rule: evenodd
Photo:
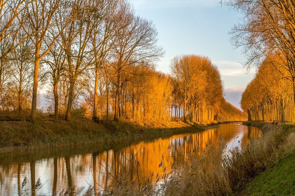
<path fill-rule="evenodd" d="M 292 82 L 282 76 L 288 76 L 286 70 L 279 72 L 272 63 L 272 59 L 265 60 L 248 84 L 242 95 L 242 108 L 250 121 L 295 122 Z"/>

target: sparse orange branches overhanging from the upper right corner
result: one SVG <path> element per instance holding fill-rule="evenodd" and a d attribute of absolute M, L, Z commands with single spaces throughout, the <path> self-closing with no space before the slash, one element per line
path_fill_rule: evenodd
<path fill-rule="evenodd" d="M 291 82 L 295 101 L 294 0 L 225 0 L 243 14 L 232 30 L 233 45 L 242 46 L 247 66 L 272 60 L 272 66 Z M 276 55 L 277 58 L 271 58 Z"/>

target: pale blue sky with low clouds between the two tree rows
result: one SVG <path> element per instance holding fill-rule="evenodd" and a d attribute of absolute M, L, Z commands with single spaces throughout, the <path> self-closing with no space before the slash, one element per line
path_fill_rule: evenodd
<path fill-rule="evenodd" d="M 137 15 L 153 21 L 165 56 L 157 70 L 170 73 L 171 59 L 182 54 L 208 56 L 223 80 L 225 98 L 240 108 L 240 98 L 255 70 L 246 72 L 241 49 L 230 43 L 229 31 L 239 13 L 220 0 L 130 0 Z"/>

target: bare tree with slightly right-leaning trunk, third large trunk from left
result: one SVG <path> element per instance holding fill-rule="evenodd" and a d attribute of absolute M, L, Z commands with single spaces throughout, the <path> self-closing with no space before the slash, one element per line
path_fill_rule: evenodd
<path fill-rule="evenodd" d="M 71 4 L 73 20 L 61 33 L 63 48 L 65 49 L 69 77 L 69 96 L 65 119 L 70 121 L 74 90 L 78 77 L 94 62 L 93 47 L 90 38 L 93 29 L 101 22 L 97 13 L 97 1 L 74 0 Z M 98 14 L 98 15 L 97 15 Z"/>

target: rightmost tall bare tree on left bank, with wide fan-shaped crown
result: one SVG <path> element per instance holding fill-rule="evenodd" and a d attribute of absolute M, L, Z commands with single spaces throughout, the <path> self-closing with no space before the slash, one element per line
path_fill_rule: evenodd
<path fill-rule="evenodd" d="M 133 10 L 126 5 L 124 20 L 118 25 L 115 39 L 115 61 L 116 75 L 116 98 L 114 120 L 119 118 L 119 94 L 120 88 L 124 84 L 121 76 L 124 68 L 128 65 L 146 61 L 154 61 L 161 57 L 164 52 L 157 44 L 157 31 L 151 21 L 134 16 Z"/>

